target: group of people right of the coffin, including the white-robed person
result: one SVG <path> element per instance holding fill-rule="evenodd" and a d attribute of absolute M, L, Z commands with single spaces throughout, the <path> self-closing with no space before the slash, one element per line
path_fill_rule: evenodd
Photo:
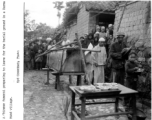
<path fill-rule="evenodd" d="M 132 48 L 127 48 L 124 41 L 125 34 L 118 32 L 113 38 L 113 25 L 105 29 L 96 26 L 94 34 L 84 34 L 80 37 L 82 48 L 89 48 L 90 43 L 94 50 L 91 52 L 93 60 L 89 63 L 92 67 L 88 72 L 90 83 L 116 82 L 136 90 L 138 75 L 142 65 L 137 61 L 137 54 Z M 78 36 L 76 34 L 76 41 Z M 88 64 L 88 63 L 87 63 Z M 110 68 L 110 75 L 106 76 L 106 68 Z M 108 81 L 105 78 L 108 77 Z M 92 82 L 93 81 L 93 82 Z M 130 98 L 124 99 L 125 105 L 130 105 Z"/>

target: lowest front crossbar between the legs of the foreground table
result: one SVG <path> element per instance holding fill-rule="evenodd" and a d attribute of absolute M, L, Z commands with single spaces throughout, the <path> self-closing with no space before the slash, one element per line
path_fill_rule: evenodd
<path fill-rule="evenodd" d="M 127 115 L 127 114 L 133 114 L 132 112 L 119 112 L 119 113 L 109 113 L 109 114 L 103 114 L 103 115 L 93 115 L 85 117 L 85 119 L 94 119 L 99 117 L 107 117 L 107 116 L 116 116 L 116 115 Z"/>

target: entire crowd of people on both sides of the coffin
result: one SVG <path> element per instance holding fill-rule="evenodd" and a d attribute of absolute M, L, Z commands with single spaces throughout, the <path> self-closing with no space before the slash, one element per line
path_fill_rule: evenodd
<path fill-rule="evenodd" d="M 113 37 L 112 24 L 109 24 L 108 28 L 97 25 L 95 33 L 86 33 L 80 38 L 78 38 L 77 33 L 75 34 L 73 41 L 80 39 L 82 48 L 89 48 L 91 45 L 93 50 L 100 50 L 100 52 L 90 52 L 92 61 L 86 63 L 91 65 L 87 76 L 91 83 L 116 82 L 136 90 L 136 82 L 139 75 L 137 71 L 142 66 L 137 62 L 136 52 L 126 47 L 123 41 L 124 37 L 125 34 L 122 32 L 118 32 Z M 70 43 L 70 40 L 67 39 L 65 34 L 60 45 L 64 46 L 68 43 Z M 50 42 L 41 40 L 35 40 L 31 43 L 25 42 L 24 68 L 41 70 L 47 67 L 47 54 L 40 57 L 36 56 L 50 49 L 55 44 L 56 40 Z M 70 47 L 72 46 L 70 45 Z M 110 74 L 107 75 L 108 72 Z M 125 98 L 126 104 L 128 100 L 128 98 Z"/>

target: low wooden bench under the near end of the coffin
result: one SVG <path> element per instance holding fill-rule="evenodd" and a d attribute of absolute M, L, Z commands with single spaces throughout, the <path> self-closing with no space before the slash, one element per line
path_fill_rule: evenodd
<path fill-rule="evenodd" d="M 77 73 L 77 72 L 51 72 L 55 75 L 55 89 L 60 90 L 60 76 L 61 75 L 69 75 L 69 82 L 71 82 L 70 76 L 77 76 L 77 86 L 81 85 L 81 75 L 85 75 L 85 73 Z"/>

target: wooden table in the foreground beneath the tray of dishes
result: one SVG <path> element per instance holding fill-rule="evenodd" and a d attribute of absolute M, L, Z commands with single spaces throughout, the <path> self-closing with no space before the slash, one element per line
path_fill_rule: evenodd
<path fill-rule="evenodd" d="M 84 93 L 79 92 L 77 90 L 79 86 L 70 86 L 70 90 L 72 91 L 72 101 L 71 101 L 71 120 L 74 120 L 74 117 L 77 120 L 89 120 L 89 119 L 95 119 L 99 117 L 106 117 L 106 116 L 115 116 L 115 115 L 126 115 L 126 114 L 132 114 L 133 120 L 136 120 L 136 94 L 138 93 L 135 90 L 132 90 L 130 88 L 127 88 L 123 85 L 118 84 L 119 90 L 121 90 L 120 93 L 113 94 L 111 92 L 90 92 L 90 93 Z M 75 104 L 75 96 L 76 94 L 80 97 L 81 104 Z M 119 112 L 119 97 L 132 97 L 132 112 Z M 114 102 L 94 102 L 94 103 L 86 103 L 86 99 L 99 99 L 99 98 L 115 98 Z M 109 103 L 115 103 L 115 113 L 109 113 L 109 114 L 102 114 L 102 115 L 94 115 L 94 116 L 85 116 L 85 106 L 91 105 L 91 104 L 109 104 Z M 78 117 L 75 106 L 81 105 L 81 115 L 80 118 Z"/>

